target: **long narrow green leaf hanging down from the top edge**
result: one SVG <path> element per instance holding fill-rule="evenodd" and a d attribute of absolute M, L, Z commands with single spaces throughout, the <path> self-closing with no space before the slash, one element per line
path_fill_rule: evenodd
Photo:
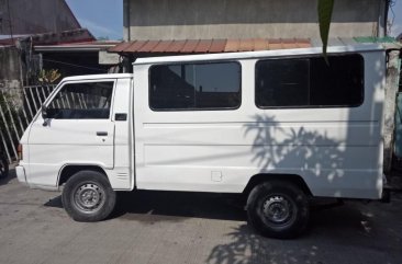
<path fill-rule="evenodd" d="M 332 12 L 334 10 L 334 1 L 335 0 L 319 0 L 319 7 L 317 7 L 320 36 L 323 43 L 323 55 L 326 64 L 328 64 L 328 58 L 326 57 L 326 48 L 328 46 L 328 35 L 330 35 Z"/>

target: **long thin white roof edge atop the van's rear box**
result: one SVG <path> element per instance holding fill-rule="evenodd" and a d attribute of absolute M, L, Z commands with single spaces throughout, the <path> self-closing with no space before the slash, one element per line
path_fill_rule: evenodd
<path fill-rule="evenodd" d="M 331 46 L 327 48 L 328 54 L 367 53 L 378 50 L 384 50 L 384 48 L 378 44 Z M 226 60 L 226 59 L 255 59 L 261 57 L 282 57 L 292 55 L 314 55 L 314 54 L 317 55 L 322 54 L 322 47 L 137 58 L 133 65 L 135 66 L 135 65 L 147 65 L 147 64 Z"/>

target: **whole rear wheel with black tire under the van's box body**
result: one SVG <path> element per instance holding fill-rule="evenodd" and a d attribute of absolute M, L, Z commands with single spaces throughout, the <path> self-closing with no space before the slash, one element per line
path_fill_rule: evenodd
<path fill-rule="evenodd" d="M 261 183 L 247 199 L 248 222 L 268 238 L 298 237 L 309 221 L 309 200 L 294 184 L 281 181 Z"/>

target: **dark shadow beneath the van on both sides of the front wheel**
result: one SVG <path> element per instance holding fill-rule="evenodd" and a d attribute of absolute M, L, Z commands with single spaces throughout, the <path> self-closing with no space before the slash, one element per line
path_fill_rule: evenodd
<path fill-rule="evenodd" d="M 119 193 L 116 209 L 111 218 L 122 220 L 164 221 L 174 218 L 208 218 L 221 220 L 245 221 L 246 213 L 243 209 L 239 195 L 135 191 Z M 62 196 L 57 196 L 44 206 L 63 208 Z M 169 218 L 170 217 L 170 218 Z"/>

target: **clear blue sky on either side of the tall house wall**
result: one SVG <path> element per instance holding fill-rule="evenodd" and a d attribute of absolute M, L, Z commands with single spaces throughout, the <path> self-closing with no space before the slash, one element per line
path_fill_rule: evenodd
<path fill-rule="evenodd" d="M 393 0 L 391 36 L 402 33 L 402 0 Z M 123 38 L 123 0 L 66 0 L 82 27 L 96 37 Z"/>

